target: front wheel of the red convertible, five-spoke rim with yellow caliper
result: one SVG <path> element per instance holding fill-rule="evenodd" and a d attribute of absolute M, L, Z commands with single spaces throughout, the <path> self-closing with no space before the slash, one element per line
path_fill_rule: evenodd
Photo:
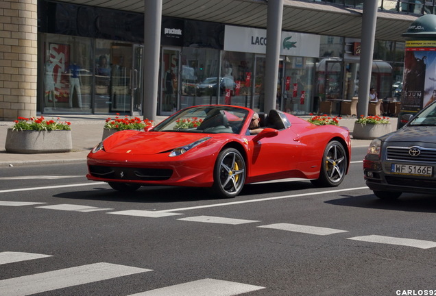
<path fill-rule="evenodd" d="M 213 170 L 213 193 L 217 197 L 236 197 L 245 183 L 245 160 L 234 148 L 227 148 L 218 154 Z"/>

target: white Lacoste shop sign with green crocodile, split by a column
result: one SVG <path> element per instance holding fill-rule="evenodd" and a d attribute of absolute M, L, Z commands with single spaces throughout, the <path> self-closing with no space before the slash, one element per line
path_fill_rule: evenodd
<path fill-rule="evenodd" d="M 320 40 L 319 35 L 282 32 L 280 55 L 318 58 Z M 266 53 L 267 30 L 226 25 L 224 50 Z"/>

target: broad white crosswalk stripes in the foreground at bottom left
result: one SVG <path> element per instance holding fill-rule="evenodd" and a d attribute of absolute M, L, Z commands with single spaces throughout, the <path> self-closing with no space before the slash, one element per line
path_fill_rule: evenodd
<path fill-rule="evenodd" d="M 0 264 L 21 262 L 23 260 L 37 260 L 48 257 L 51 256 L 45 254 L 5 251 L 0 253 Z M 108 262 L 97 262 L 78 267 L 69 267 L 66 269 L 0 280 L 0 295 L 32 295 L 150 271 L 153 270 L 140 267 L 130 267 L 121 264 L 112 264 Z M 157 288 L 150 291 L 143 291 L 141 293 L 135 293 L 129 296 L 231 296 L 257 291 L 263 288 L 265 287 L 207 278 L 195 280 L 193 282 L 185 282 L 174 286 Z M 106 295 L 106 293 L 101 291 L 101 295 Z"/>

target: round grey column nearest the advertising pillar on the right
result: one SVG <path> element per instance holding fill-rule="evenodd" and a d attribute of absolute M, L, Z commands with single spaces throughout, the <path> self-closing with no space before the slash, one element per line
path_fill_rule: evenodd
<path fill-rule="evenodd" d="M 374 53 L 374 40 L 377 23 L 377 1 L 363 3 L 362 16 L 362 42 L 359 68 L 359 104 L 357 105 L 357 118 L 367 116 L 370 97 L 370 84 L 372 72 L 372 56 Z"/>

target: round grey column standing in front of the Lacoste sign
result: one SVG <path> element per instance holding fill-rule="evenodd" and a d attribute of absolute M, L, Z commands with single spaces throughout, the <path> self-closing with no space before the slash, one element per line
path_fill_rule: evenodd
<path fill-rule="evenodd" d="M 267 53 L 265 58 L 264 112 L 276 109 L 278 62 L 282 36 L 283 0 L 269 0 L 267 12 Z"/>

